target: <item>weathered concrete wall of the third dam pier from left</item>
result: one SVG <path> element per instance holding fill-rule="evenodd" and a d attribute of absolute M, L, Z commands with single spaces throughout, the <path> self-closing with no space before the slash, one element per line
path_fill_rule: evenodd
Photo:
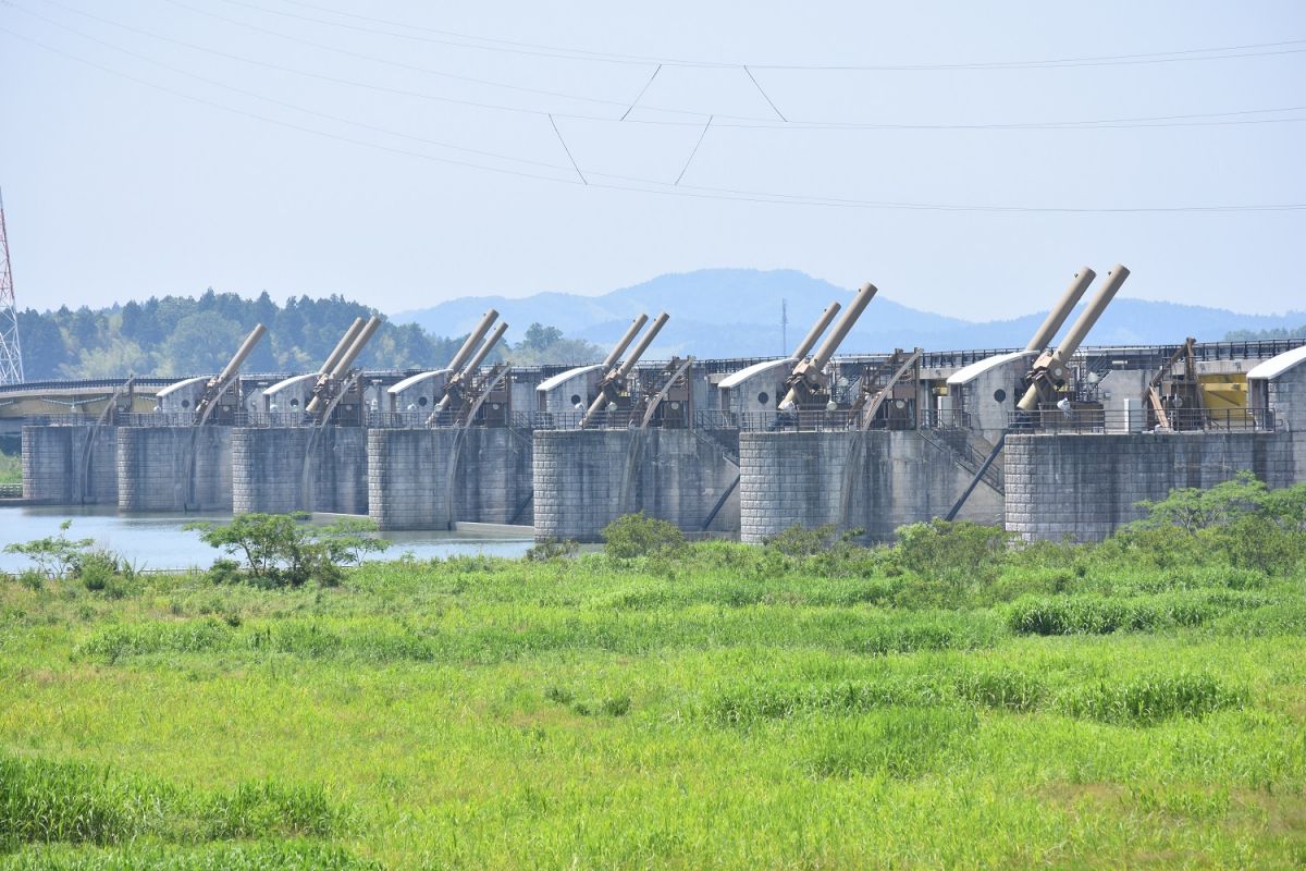
<path fill-rule="evenodd" d="M 366 515 L 367 432 L 360 427 L 232 430 L 231 503 L 238 515 Z"/>

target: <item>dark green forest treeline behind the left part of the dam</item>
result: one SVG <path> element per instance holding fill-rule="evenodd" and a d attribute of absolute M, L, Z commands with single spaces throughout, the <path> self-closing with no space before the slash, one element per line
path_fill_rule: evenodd
<path fill-rule="evenodd" d="M 210 289 L 199 299 L 170 295 L 101 309 L 29 308 L 18 315 L 18 334 L 29 381 L 129 373 L 206 375 L 226 364 L 255 324 L 266 326 L 268 336 L 246 362 L 244 371 L 303 372 L 321 366 L 355 317 L 376 313 L 340 295 L 291 296 L 278 306 L 266 291 L 251 300 Z M 436 368 L 453 356 L 464 338 L 432 336 L 415 324 L 385 323 L 359 364 Z M 572 354 L 594 358 L 597 349 L 534 324 L 517 346 L 496 349 L 490 359 L 502 359 L 505 351 L 525 364 L 571 362 Z"/>

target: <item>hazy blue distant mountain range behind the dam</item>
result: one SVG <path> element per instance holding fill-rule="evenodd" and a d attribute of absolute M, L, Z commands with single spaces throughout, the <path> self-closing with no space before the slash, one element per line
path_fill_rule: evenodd
<path fill-rule="evenodd" d="M 1049 299 L 1060 287 L 1049 289 Z M 795 270 L 703 269 L 658 276 L 633 287 L 599 296 L 542 293 L 521 299 L 464 296 L 432 308 L 398 312 L 397 324 L 418 324 L 436 336 L 460 336 L 475 326 L 487 308 L 512 325 L 520 338 L 532 323 L 556 326 L 571 338 L 603 347 L 615 342 L 639 312 L 660 311 L 670 323 L 653 343 L 650 358 L 769 356 L 788 354 L 831 300 L 846 303 L 852 290 Z M 1092 289 L 1089 290 L 1092 293 Z M 789 308 L 788 341 L 781 341 L 781 300 Z M 966 321 L 923 312 L 883 296 L 862 315 L 840 349 L 845 354 L 921 346 L 932 350 L 1017 347 L 1042 323 L 1043 312 L 1000 321 Z M 1091 345 L 1135 345 L 1218 341 L 1230 330 L 1298 328 L 1306 312 L 1242 315 L 1221 308 L 1117 298 L 1089 334 Z"/>

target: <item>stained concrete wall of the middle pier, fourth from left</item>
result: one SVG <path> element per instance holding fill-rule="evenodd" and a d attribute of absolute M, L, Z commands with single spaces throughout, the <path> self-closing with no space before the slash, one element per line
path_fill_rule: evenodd
<path fill-rule="evenodd" d="M 532 448 L 507 428 L 372 430 L 368 507 L 381 529 L 532 522 Z"/>

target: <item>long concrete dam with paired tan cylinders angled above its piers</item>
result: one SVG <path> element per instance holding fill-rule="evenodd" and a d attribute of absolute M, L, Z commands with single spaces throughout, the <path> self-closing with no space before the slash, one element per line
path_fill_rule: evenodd
<path fill-rule="evenodd" d="M 794 525 L 882 542 L 936 517 L 1098 541 L 1174 487 L 1306 481 L 1306 342 L 1089 345 L 1128 276 L 1080 268 L 1015 349 L 845 353 L 874 317 L 867 283 L 781 358 L 649 359 L 675 329 L 662 312 L 601 362 L 513 366 L 491 309 L 447 362 L 363 371 L 374 317 L 313 372 L 243 373 L 260 326 L 215 375 L 20 384 L 0 418 L 21 426 L 30 504 L 538 541 L 597 542 L 633 512 L 755 543 Z"/>

